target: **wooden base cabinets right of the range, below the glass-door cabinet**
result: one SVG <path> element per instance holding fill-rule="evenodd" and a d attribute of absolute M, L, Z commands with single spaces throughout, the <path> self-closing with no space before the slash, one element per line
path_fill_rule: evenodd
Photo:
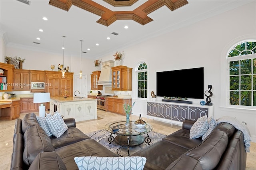
<path fill-rule="evenodd" d="M 113 97 L 106 97 L 106 105 L 107 109 L 106 111 L 113 112 L 113 113 L 119 113 L 122 115 L 125 115 L 124 112 L 124 104 L 131 105 L 132 99 L 118 99 Z"/>

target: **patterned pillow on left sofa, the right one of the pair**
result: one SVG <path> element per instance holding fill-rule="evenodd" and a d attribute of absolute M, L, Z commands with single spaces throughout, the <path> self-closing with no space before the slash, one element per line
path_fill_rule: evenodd
<path fill-rule="evenodd" d="M 51 114 L 46 115 L 46 123 L 50 132 L 52 135 L 56 136 L 56 138 L 62 136 L 62 134 L 68 129 L 60 113 L 57 111 L 53 116 Z"/>

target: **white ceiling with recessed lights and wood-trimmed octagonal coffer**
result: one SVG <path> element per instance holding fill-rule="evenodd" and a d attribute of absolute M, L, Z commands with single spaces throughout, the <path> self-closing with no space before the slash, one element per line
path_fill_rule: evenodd
<path fill-rule="evenodd" d="M 82 57 L 95 59 L 249 2 L 0 0 L 0 29 L 7 47 L 62 54 L 62 36 L 66 36 L 65 55 L 80 57 L 80 40 L 83 40 L 82 51 L 86 53 L 82 53 Z"/>

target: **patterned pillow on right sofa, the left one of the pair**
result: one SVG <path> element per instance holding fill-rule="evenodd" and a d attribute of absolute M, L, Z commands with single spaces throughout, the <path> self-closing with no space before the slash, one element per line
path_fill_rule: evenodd
<path fill-rule="evenodd" d="M 189 137 L 191 139 L 200 138 L 209 128 L 208 118 L 206 115 L 197 119 L 190 128 Z"/>

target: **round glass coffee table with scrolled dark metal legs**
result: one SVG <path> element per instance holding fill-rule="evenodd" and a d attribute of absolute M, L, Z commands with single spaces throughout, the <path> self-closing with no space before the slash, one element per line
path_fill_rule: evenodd
<path fill-rule="evenodd" d="M 114 121 L 105 126 L 105 129 L 111 133 L 108 138 L 109 144 L 115 141 L 116 144 L 127 146 L 128 155 L 130 146 L 138 146 L 143 142 L 150 145 L 151 142 L 148 132 L 152 131 L 152 125 L 146 123 L 144 127 L 137 127 L 134 122 L 130 121 L 129 124 L 126 124 L 126 121 Z M 114 137 L 113 134 L 117 134 L 117 136 Z M 144 138 L 142 134 L 147 134 L 147 136 Z"/>

